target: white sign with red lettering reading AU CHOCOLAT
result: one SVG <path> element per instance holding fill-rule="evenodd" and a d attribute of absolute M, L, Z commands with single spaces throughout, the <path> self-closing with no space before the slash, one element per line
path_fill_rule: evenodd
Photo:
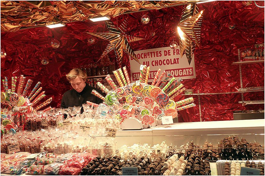
<path fill-rule="evenodd" d="M 171 76 L 175 78 L 196 78 L 194 56 L 191 60 L 191 65 L 189 65 L 185 53 L 182 57 L 180 56 L 179 46 L 174 50 L 170 47 L 164 47 L 134 51 L 134 53 L 141 65 L 150 66 L 148 82 L 153 81 L 159 68 L 161 69 L 159 76 L 163 71 L 166 71 L 166 75 L 171 74 Z M 135 82 L 136 80 L 139 80 L 140 65 L 138 62 L 132 59 L 132 57 L 130 57 L 130 65 L 131 80 L 132 82 Z"/>

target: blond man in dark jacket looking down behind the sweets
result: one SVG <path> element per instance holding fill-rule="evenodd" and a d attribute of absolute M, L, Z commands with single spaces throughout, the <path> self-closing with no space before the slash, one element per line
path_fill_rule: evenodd
<path fill-rule="evenodd" d="M 94 87 L 86 84 L 87 75 L 80 68 L 72 69 L 67 75 L 67 80 L 72 85 L 73 89 L 68 90 L 64 93 L 61 101 L 61 108 L 68 108 L 73 106 L 82 106 L 87 101 L 91 101 L 96 104 L 102 103 L 102 100 L 95 95 L 91 94 L 92 90 L 95 89 L 97 92 L 102 92 Z M 81 113 L 83 113 L 83 107 Z"/>

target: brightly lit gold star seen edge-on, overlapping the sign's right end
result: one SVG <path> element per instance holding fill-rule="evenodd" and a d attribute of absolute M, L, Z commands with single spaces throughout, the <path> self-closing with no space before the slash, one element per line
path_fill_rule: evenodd
<path fill-rule="evenodd" d="M 198 12 L 196 4 L 188 4 L 183 10 L 177 26 L 178 35 L 180 36 L 180 55 L 182 57 L 185 52 L 189 65 L 191 64 L 195 46 L 200 46 L 203 11 Z"/>

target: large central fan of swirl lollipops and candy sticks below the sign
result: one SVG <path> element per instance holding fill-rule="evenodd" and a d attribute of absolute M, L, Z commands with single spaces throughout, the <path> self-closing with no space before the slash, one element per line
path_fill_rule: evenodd
<path fill-rule="evenodd" d="M 123 70 L 123 72 L 122 72 Z M 161 121 L 163 116 L 178 116 L 178 111 L 195 106 L 193 97 L 175 102 L 174 97 L 181 94 L 185 88 L 181 84 L 182 79 L 166 75 L 159 69 L 151 85 L 148 84 L 150 67 L 141 65 L 140 78 L 134 83 L 130 82 L 126 66 L 113 71 L 119 87 L 114 83 L 110 75 L 105 78 L 112 90 L 97 82 L 98 87 L 107 95 L 103 97 L 97 91 L 92 94 L 105 101 L 105 104 L 115 109 L 115 118 L 124 122 L 126 119 L 135 118 L 145 125 L 155 126 L 156 121 Z M 160 76 L 159 76 L 160 75 Z M 163 77 L 165 79 L 163 80 Z M 91 104 L 91 102 L 88 102 Z M 108 113 L 109 113 L 108 112 Z"/>

